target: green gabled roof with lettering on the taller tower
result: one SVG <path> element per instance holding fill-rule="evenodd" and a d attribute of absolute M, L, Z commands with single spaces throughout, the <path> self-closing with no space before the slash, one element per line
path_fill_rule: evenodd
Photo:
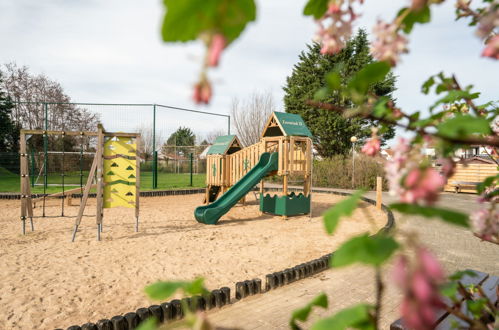
<path fill-rule="evenodd" d="M 262 136 L 307 136 L 311 138 L 312 133 L 300 115 L 274 112 L 265 125 Z"/>

